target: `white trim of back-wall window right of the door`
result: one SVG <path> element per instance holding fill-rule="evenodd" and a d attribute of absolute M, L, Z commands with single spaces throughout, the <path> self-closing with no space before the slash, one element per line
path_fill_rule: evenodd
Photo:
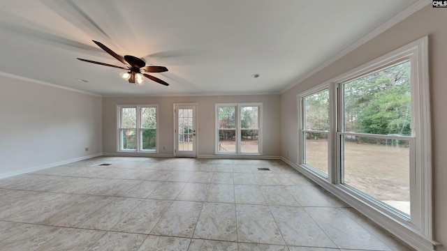
<path fill-rule="evenodd" d="M 240 107 L 257 106 L 258 114 L 258 153 L 241 153 L 240 152 Z M 232 153 L 219 152 L 219 107 L 236 107 L 236 151 Z M 214 104 L 214 154 L 216 155 L 262 155 L 263 154 L 263 103 L 262 102 L 240 102 L 240 103 L 215 103 Z"/>

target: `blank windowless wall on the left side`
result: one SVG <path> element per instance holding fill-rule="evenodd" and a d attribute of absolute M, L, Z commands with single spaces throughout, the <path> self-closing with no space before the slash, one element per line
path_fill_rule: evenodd
<path fill-rule="evenodd" d="M 0 76 L 0 178 L 101 153 L 101 97 Z"/>

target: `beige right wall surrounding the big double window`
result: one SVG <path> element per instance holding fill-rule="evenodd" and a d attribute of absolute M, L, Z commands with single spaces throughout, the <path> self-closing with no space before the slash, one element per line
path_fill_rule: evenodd
<path fill-rule="evenodd" d="M 365 45 L 320 70 L 281 95 L 281 155 L 298 162 L 297 94 L 376 59 L 398 47 L 429 36 L 432 106 L 434 238 L 447 250 L 447 12 L 431 5 L 381 33 Z"/>

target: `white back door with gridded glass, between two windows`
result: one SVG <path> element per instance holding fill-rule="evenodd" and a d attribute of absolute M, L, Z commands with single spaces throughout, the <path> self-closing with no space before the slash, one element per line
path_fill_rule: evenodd
<path fill-rule="evenodd" d="M 175 105 L 175 157 L 196 158 L 196 105 Z"/>

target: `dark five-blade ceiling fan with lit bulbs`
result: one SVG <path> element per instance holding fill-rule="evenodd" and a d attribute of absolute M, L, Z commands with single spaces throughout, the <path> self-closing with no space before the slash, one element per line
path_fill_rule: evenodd
<path fill-rule="evenodd" d="M 168 71 L 168 68 L 166 68 L 164 66 L 146 66 L 145 61 L 142 61 L 142 59 L 138 59 L 138 57 L 136 57 L 136 56 L 131 56 L 131 55 L 119 56 L 118 54 L 116 54 L 115 52 L 110 50 L 108 47 L 103 45 L 102 43 L 95 41 L 95 40 L 92 40 L 92 41 L 94 43 L 96 43 L 96 45 L 101 47 L 101 49 L 103 49 L 105 52 L 112 55 L 115 59 L 118 59 L 118 61 L 120 61 L 121 63 L 124 63 L 127 66 L 127 68 L 124 68 L 121 66 L 114 66 L 114 65 L 111 65 L 108 63 L 91 61 L 88 59 L 80 59 L 80 58 L 77 58 L 77 59 L 79 59 L 80 61 L 85 61 L 85 62 L 89 62 L 89 63 L 96 63 L 101 66 L 110 66 L 110 67 L 114 67 L 114 68 L 124 69 L 124 70 L 126 70 L 126 73 L 122 73 L 121 76 L 124 79 L 129 80 L 129 83 L 132 83 L 132 84 L 142 85 L 143 76 L 144 76 L 144 77 L 147 77 L 148 79 L 151 79 L 152 81 L 155 81 L 159 84 L 163 84 L 166 86 L 169 85 L 168 83 L 164 82 L 163 80 L 161 80 L 159 78 L 156 78 L 152 75 L 146 74 L 146 73 L 163 73 L 163 72 Z"/>

